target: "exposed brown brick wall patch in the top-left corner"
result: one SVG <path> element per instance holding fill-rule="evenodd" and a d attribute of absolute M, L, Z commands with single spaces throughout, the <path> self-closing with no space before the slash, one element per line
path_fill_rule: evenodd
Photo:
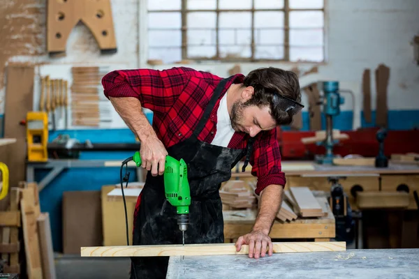
<path fill-rule="evenodd" d="M 45 53 L 45 1 L 0 1 L 0 91 L 10 57 L 38 56 Z"/>

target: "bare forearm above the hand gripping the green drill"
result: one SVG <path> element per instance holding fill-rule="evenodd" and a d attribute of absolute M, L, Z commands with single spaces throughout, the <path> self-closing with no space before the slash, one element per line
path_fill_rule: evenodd
<path fill-rule="evenodd" d="M 140 100 L 133 97 L 111 97 L 110 102 L 126 125 L 137 135 L 140 142 L 145 142 L 150 136 L 156 136 L 147 117 L 142 112 Z"/>

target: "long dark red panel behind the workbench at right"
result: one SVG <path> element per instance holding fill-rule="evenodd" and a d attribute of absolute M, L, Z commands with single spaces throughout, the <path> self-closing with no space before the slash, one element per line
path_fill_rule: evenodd
<path fill-rule="evenodd" d="M 364 157 L 375 157 L 378 153 L 376 132 L 378 128 L 362 128 L 359 130 L 342 131 L 349 136 L 348 140 L 339 141 L 333 153 L 346 156 L 359 154 Z M 284 131 L 278 128 L 278 141 L 281 146 L 283 160 L 314 158 L 324 154 L 325 148 L 316 144 L 303 144 L 303 137 L 314 137 L 314 131 Z M 385 156 L 392 153 L 419 153 L 419 130 L 388 130 L 384 140 Z"/>

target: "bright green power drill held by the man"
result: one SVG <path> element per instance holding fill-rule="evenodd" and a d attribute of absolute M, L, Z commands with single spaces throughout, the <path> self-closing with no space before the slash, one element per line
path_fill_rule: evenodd
<path fill-rule="evenodd" d="M 140 152 L 134 153 L 133 161 L 137 167 L 141 166 Z M 182 232 L 182 243 L 184 245 L 185 231 L 189 225 L 189 206 L 191 205 L 188 168 L 185 161 L 166 156 L 163 179 L 166 199 L 172 206 L 176 206 L 177 225 Z"/>

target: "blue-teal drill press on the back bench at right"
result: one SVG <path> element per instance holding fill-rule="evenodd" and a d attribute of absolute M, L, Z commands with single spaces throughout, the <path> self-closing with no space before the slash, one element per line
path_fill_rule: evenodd
<path fill-rule="evenodd" d="M 339 82 L 323 82 L 323 113 L 326 117 L 326 139 L 321 142 L 325 146 L 326 152 L 322 156 L 316 156 L 319 164 L 332 165 L 333 163 L 333 116 L 340 114 L 340 105 L 344 104 L 345 99 L 340 96 Z"/>

